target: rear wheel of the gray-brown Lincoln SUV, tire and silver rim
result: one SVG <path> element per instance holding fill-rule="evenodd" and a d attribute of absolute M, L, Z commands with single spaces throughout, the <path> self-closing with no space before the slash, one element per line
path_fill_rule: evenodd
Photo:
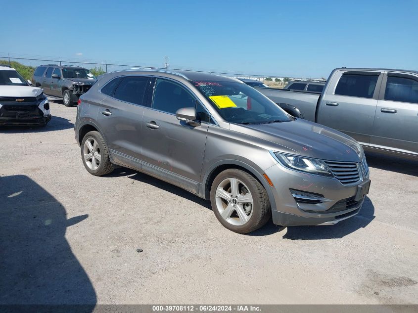
<path fill-rule="evenodd" d="M 81 142 L 81 158 L 86 170 L 94 176 L 102 176 L 113 171 L 109 150 L 103 136 L 96 131 L 87 133 Z"/>

